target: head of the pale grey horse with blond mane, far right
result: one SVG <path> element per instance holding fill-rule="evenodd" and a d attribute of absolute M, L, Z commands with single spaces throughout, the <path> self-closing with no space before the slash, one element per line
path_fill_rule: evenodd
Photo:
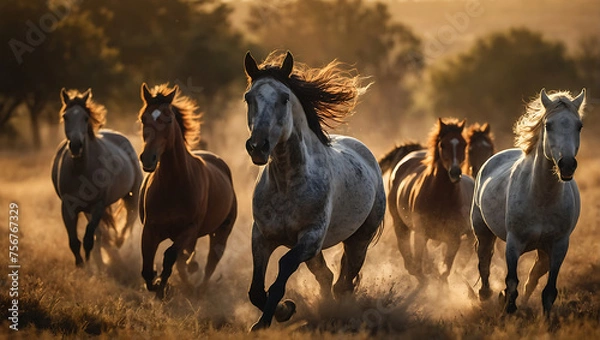
<path fill-rule="evenodd" d="M 562 181 L 570 181 L 577 169 L 575 157 L 583 127 L 579 109 L 585 101 L 585 89 L 573 100 L 562 96 L 551 99 L 543 89 L 540 100 L 548 112 L 543 121 L 544 156 L 554 163 Z"/>

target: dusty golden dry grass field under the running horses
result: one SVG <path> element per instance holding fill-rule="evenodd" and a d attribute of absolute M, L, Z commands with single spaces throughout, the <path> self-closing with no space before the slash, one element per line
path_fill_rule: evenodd
<path fill-rule="evenodd" d="M 529 305 L 519 303 L 514 316 L 503 316 L 496 299 L 480 303 L 474 292 L 479 288 L 476 259 L 472 245 L 461 250 L 460 266 L 447 286 L 432 284 L 417 290 L 417 282 L 404 270 L 396 247 L 389 217 L 380 241 L 372 246 L 362 270 L 355 297 L 346 301 L 321 301 L 318 285 L 305 266 L 290 282 L 286 296 L 296 301 L 297 314 L 283 324 L 258 335 L 247 331 L 259 312 L 247 299 L 251 277 L 250 198 L 257 167 L 244 150 L 247 138 L 243 108 L 229 121 L 214 124 L 203 135 L 209 148 L 230 164 L 239 200 L 239 215 L 228 247 L 209 291 L 196 296 L 178 289 L 179 279 L 172 276 L 172 289 L 166 301 L 157 301 L 145 290 L 141 278 L 139 235 L 141 226 L 120 253 L 122 265 L 108 263 L 99 269 L 94 261 L 84 269 L 74 265 L 67 235 L 60 217 L 60 201 L 52 188 L 50 164 L 53 146 L 39 153 L 5 150 L 0 153 L 0 217 L 6 235 L 8 206 L 19 205 L 19 332 L 9 329 L 7 307 L 10 279 L 0 281 L 3 321 L 0 337 L 10 338 L 581 338 L 600 337 L 600 160 L 595 156 L 598 140 L 593 128 L 584 129 L 579 169 L 583 209 L 572 236 L 571 248 L 559 276 L 559 296 L 554 305 L 552 326 L 541 315 L 538 288 Z M 109 122 L 110 126 L 110 122 Z M 429 126 L 414 126 L 413 138 Z M 348 133 L 363 139 L 376 155 L 383 154 L 396 140 L 382 140 L 374 133 L 353 130 Z M 500 132 L 496 132 L 497 134 Z M 139 135 L 131 135 L 140 151 Z M 424 136 L 421 140 L 424 139 Z M 80 227 L 83 227 L 80 225 Z M 6 237 L 3 236 L 3 240 Z M 3 241 L 3 247 L 7 247 Z M 198 243 L 199 262 L 206 258 L 207 240 Z M 165 249 L 163 246 L 161 249 Z M 267 280 L 274 279 L 276 251 Z M 440 249 L 430 247 L 433 254 Z M 2 260 L 6 272 L 7 249 Z M 159 253 L 160 254 L 160 253 Z M 341 249 L 326 251 L 330 268 L 339 271 Z M 162 255 L 158 256 L 158 260 Z M 520 262 L 521 283 L 532 262 L 525 256 Z M 159 266 L 160 267 L 160 266 Z M 201 272 L 201 271 L 200 271 Z M 193 276 L 200 282 L 202 274 Z M 492 287 L 503 289 L 505 267 L 496 257 L 492 268 Z M 545 278 L 541 280 L 545 284 Z M 521 288 L 522 291 L 522 288 Z M 519 302 L 519 300 L 518 300 Z"/>

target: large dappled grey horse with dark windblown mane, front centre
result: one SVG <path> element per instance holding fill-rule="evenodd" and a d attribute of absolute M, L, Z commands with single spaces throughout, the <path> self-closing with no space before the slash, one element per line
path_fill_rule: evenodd
<path fill-rule="evenodd" d="M 320 69 L 271 53 L 259 67 L 245 57 L 252 162 L 264 166 L 252 197 L 252 304 L 263 313 L 252 330 L 270 326 L 273 316 L 288 320 L 291 300 L 280 303 L 289 277 L 303 262 L 323 297 L 332 295 L 333 273 L 322 250 L 343 243 L 336 297 L 350 294 L 367 247 L 382 231 L 385 191 L 371 151 L 357 139 L 328 135 L 324 126 L 342 122 L 364 88 L 333 61 Z M 265 271 L 278 246 L 290 250 L 279 260 L 275 282 L 265 291 Z"/>

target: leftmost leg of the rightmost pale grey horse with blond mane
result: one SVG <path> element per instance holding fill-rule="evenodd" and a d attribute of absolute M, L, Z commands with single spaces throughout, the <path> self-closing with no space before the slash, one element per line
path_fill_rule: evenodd
<path fill-rule="evenodd" d="M 471 211 L 471 223 L 473 232 L 477 238 L 477 257 L 479 259 L 478 269 L 481 277 L 481 288 L 479 289 L 479 299 L 487 300 L 492 295 L 490 289 L 490 263 L 494 255 L 494 243 L 496 235 L 487 227 L 478 207 L 473 206 Z"/>

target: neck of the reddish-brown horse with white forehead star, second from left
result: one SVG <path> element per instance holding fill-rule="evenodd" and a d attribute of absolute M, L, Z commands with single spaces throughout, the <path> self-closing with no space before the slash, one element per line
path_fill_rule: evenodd
<path fill-rule="evenodd" d="M 168 179 L 168 183 L 188 183 L 192 176 L 191 166 L 194 156 L 188 150 L 179 127 L 175 127 L 174 130 L 172 142 L 167 144 L 160 156 L 156 175 Z"/>

